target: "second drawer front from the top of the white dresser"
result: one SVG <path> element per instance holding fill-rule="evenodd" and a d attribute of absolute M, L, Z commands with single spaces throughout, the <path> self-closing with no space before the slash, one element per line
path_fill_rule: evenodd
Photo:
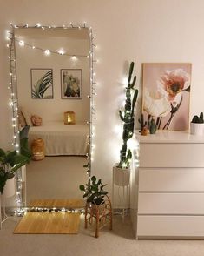
<path fill-rule="evenodd" d="M 204 192 L 204 168 L 140 168 L 140 192 Z"/>

